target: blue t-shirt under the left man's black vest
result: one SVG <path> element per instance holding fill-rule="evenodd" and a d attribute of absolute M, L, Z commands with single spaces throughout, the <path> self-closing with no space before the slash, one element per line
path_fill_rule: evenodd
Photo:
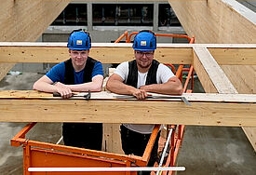
<path fill-rule="evenodd" d="M 87 70 L 85 70 L 87 71 Z M 101 74 L 103 75 L 103 68 L 100 61 L 97 61 L 94 64 L 91 78 L 95 75 Z M 65 76 L 65 62 L 61 62 L 54 67 L 47 73 L 47 77 L 51 79 L 52 82 L 61 82 L 64 83 L 64 76 Z M 74 85 L 84 83 L 84 70 L 80 72 L 74 71 Z"/>

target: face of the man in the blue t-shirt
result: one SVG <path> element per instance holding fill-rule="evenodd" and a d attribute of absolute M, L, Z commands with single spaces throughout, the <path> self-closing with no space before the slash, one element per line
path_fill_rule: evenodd
<path fill-rule="evenodd" d="M 69 50 L 74 66 L 84 66 L 88 60 L 89 50 Z"/>

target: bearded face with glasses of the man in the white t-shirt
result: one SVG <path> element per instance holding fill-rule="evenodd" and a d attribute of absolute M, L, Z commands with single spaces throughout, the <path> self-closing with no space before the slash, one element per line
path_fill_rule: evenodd
<path fill-rule="evenodd" d="M 154 59 L 154 51 L 134 51 L 138 68 L 149 69 Z M 140 70 L 139 70 L 140 71 Z M 147 70 L 146 70 L 147 71 Z"/>

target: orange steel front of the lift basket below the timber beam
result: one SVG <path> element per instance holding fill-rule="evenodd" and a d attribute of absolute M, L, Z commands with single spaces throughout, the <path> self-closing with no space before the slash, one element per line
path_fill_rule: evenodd
<path fill-rule="evenodd" d="M 40 175 L 46 172 L 30 172 L 28 168 L 111 168 L 111 167 L 146 167 L 155 143 L 160 125 L 155 125 L 150 140 L 142 156 L 119 155 L 102 151 L 76 148 L 41 141 L 30 141 L 26 133 L 36 123 L 28 124 L 11 140 L 12 146 L 23 147 L 23 174 Z M 47 172 L 57 174 L 124 174 L 135 175 L 137 172 Z"/>

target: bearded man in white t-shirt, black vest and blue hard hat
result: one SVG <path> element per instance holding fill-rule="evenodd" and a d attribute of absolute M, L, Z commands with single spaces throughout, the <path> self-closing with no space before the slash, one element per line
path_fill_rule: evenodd
<path fill-rule="evenodd" d="M 155 34 L 141 31 L 134 38 L 134 61 L 117 66 L 110 76 L 106 88 L 117 94 L 133 95 L 139 100 L 146 99 L 147 92 L 182 95 L 182 83 L 171 70 L 154 60 L 156 49 Z M 154 125 L 121 125 L 122 148 L 126 155 L 143 155 Z M 148 166 L 153 167 L 157 158 L 158 133 Z"/>

